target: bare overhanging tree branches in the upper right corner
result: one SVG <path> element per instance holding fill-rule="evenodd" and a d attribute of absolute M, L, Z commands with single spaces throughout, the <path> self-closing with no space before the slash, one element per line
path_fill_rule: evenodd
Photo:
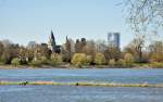
<path fill-rule="evenodd" d="M 158 34 L 163 26 L 163 0 L 124 0 L 127 21 L 136 34 Z"/>

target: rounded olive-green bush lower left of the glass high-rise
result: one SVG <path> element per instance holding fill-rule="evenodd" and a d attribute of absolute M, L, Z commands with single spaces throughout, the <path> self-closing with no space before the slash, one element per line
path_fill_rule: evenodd
<path fill-rule="evenodd" d="M 97 65 L 103 65 L 103 64 L 105 64 L 104 54 L 100 53 L 100 52 L 96 53 L 95 63 Z"/>

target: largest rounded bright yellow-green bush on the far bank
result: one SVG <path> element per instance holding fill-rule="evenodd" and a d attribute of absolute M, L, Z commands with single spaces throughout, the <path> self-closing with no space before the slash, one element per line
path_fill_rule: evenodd
<path fill-rule="evenodd" d="M 75 53 L 71 62 L 73 65 L 82 67 L 82 65 L 87 63 L 87 56 L 85 53 Z"/>

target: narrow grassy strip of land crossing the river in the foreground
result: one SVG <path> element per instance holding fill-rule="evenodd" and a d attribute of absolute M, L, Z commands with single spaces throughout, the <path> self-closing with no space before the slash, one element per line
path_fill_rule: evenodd
<path fill-rule="evenodd" d="M 115 82 L 57 82 L 57 81 L 0 81 L 0 86 L 27 86 L 27 85 L 46 85 L 46 86 L 90 86 L 90 87 L 150 87 L 150 88 L 163 88 L 163 84 L 150 85 L 150 84 L 115 84 Z"/>

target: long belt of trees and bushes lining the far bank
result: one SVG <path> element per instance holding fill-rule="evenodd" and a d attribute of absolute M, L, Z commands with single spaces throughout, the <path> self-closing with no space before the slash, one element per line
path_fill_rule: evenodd
<path fill-rule="evenodd" d="M 30 41 L 27 47 L 0 41 L 1 65 L 62 66 L 65 67 L 163 67 L 163 42 L 154 41 L 142 50 L 134 39 L 123 50 L 108 46 L 103 40 L 66 39 L 61 53 L 53 53 L 48 44 Z"/>

